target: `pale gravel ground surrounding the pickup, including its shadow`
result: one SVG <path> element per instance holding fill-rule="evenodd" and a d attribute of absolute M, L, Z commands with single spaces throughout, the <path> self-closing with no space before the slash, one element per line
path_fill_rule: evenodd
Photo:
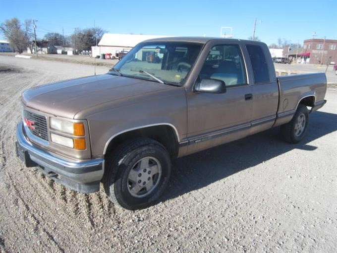
<path fill-rule="evenodd" d="M 0 56 L 0 252 L 336 252 L 335 91 L 301 143 L 273 128 L 177 159 L 161 202 L 128 211 L 103 189 L 68 190 L 15 157 L 21 92 L 92 73 Z"/>

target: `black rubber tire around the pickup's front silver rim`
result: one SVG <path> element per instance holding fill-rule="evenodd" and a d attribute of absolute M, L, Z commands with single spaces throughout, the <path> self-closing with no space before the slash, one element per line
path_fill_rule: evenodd
<path fill-rule="evenodd" d="M 133 170 L 133 172 L 136 171 L 135 166 L 139 164 L 139 161 L 147 159 L 148 157 L 153 158 L 153 160 L 149 159 L 150 161 L 159 163 L 158 167 L 161 168 L 161 174 L 156 174 L 157 181 L 152 190 L 145 192 L 143 194 L 144 196 L 137 195 L 137 197 L 135 197 L 132 195 L 131 190 L 137 185 L 137 182 L 132 183 L 134 184 L 133 187 L 130 185 L 129 173 L 131 170 Z M 165 147 L 156 140 L 137 138 L 132 141 L 127 141 L 120 145 L 107 160 L 106 173 L 103 180 L 105 190 L 112 202 L 121 207 L 129 210 L 148 207 L 155 203 L 168 185 L 171 174 L 169 153 Z M 151 167 L 148 168 L 149 173 L 151 172 L 150 168 Z M 143 173 L 143 171 L 138 172 Z M 143 174 L 146 173 L 144 172 Z M 153 177 L 156 177 L 156 175 Z M 140 179 L 142 178 L 139 178 L 139 181 Z M 153 178 L 151 182 L 155 182 L 155 179 Z M 145 181 L 141 184 L 143 183 L 145 183 Z M 140 192 L 143 191 L 147 191 L 146 186 L 140 190 Z"/>

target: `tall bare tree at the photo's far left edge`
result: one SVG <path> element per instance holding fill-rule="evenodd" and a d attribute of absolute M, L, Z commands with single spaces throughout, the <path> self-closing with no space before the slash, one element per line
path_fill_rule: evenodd
<path fill-rule="evenodd" d="M 29 46 L 31 39 L 31 20 L 27 19 L 24 24 L 21 24 L 16 17 L 7 19 L 0 25 L 0 31 L 13 49 L 22 53 Z"/>

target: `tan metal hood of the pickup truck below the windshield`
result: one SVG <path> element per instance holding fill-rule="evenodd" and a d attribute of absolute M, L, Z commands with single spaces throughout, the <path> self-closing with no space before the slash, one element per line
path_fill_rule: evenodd
<path fill-rule="evenodd" d="M 73 119 L 81 111 L 109 103 L 140 99 L 145 94 L 176 88 L 173 86 L 110 74 L 88 76 L 37 86 L 22 94 L 23 103 L 33 109 Z M 133 100 L 132 99 L 132 100 Z M 110 107 L 111 108 L 111 107 Z"/>

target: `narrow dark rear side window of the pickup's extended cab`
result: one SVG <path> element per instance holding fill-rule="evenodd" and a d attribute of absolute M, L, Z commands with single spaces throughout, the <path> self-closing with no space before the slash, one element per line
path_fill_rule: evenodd
<path fill-rule="evenodd" d="M 246 48 L 252 63 L 254 82 L 269 82 L 268 66 L 262 48 L 256 45 L 246 45 Z"/>

